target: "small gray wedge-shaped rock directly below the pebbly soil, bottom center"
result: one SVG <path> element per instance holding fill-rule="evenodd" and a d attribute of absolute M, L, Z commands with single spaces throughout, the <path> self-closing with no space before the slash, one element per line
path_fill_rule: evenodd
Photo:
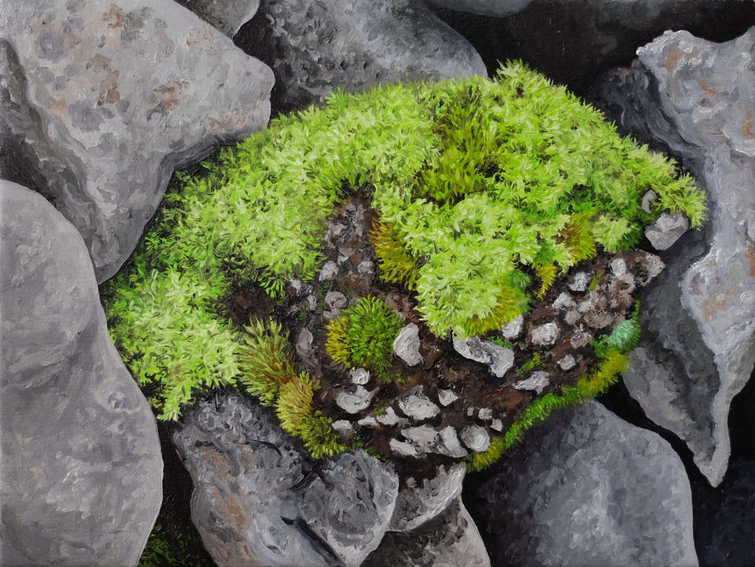
<path fill-rule="evenodd" d="M 390 532 L 409 532 L 439 516 L 461 495 L 462 481 L 467 467 L 452 465 L 448 471 L 441 466 L 432 479 L 424 479 L 422 486 L 399 490 Z"/>

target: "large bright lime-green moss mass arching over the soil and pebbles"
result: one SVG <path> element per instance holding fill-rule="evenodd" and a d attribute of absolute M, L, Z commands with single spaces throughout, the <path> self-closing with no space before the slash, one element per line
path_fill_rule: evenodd
<path fill-rule="evenodd" d="M 494 81 L 339 91 L 206 168 L 177 174 L 133 265 L 103 291 L 113 341 L 162 419 L 244 375 L 229 290 L 254 282 L 280 297 L 288 279 L 311 279 L 324 221 L 353 188 L 389 227 L 377 229 L 384 277 L 414 288 L 438 335 L 498 328 L 554 270 L 633 245 L 661 211 L 704 219 L 689 176 L 516 62 Z"/>

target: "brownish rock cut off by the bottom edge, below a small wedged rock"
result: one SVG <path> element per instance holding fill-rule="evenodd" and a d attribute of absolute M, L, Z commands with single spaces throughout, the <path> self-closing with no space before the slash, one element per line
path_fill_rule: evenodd
<path fill-rule="evenodd" d="M 433 522 L 411 532 L 389 532 L 364 567 L 490 567 L 479 530 L 461 497 Z"/>

